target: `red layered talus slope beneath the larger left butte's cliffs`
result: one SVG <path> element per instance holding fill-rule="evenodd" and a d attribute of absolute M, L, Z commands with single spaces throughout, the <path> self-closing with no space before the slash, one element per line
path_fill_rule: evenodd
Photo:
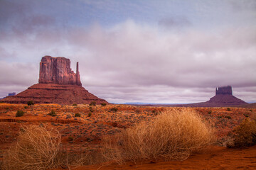
<path fill-rule="evenodd" d="M 34 84 L 22 91 L 16 96 L 10 96 L 3 99 L 6 103 L 107 103 L 107 101 L 90 94 L 85 88 L 78 85 L 60 85 L 60 84 Z"/>

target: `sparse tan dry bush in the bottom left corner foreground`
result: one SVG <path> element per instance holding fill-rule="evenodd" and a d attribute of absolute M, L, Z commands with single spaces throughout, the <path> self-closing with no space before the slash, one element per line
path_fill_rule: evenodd
<path fill-rule="evenodd" d="M 23 127 L 4 155 L 3 169 L 52 169 L 59 166 L 60 133 L 36 125 Z"/>

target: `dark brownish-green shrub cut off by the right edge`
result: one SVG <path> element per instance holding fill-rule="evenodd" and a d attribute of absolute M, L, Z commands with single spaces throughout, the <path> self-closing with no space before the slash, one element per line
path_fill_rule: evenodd
<path fill-rule="evenodd" d="M 234 130 L 234 147 L 250 147 L 256 145 L 256 122 L 246 118 Z"/>

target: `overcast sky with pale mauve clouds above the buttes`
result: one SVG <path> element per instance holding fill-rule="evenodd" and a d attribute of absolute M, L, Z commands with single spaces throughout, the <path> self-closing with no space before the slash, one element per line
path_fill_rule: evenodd
<path fill-rule="evenodd" d="M 0 0 L 0 98 L 67 57 L 111 103 L 256 102 L 255 0 Z"/>

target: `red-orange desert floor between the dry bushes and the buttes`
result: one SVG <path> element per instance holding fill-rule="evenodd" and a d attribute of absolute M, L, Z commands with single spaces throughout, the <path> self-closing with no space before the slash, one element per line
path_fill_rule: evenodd
<path fill-rule="evenodd" d="M 117 111 L 111 111 L 117 108 Z M 63 146 L 70 152 L 97 151 L 104 135 L 114 135 L 124 128 L 151 120 L 161 111 L 172 110 L 171 107 L 151 106 L 60 106 L 60 105 L 17 105 L 0 103 L 0 157 L 16 141 L 23 125 L 47 125 L 57 129 Z M 181 109 L 181 108 L 178 108 Z M 82 166 L 77 169 L 256 169 L 256 147 L 247 149 L 227 149 L 225 142 L 235 126 L 243 119 L 256 113 L 256 108 L 193 108 L 207 120 L 214 123 L 218 142 L 205 152 L 191 155 L 183 162 L 137 162 L 119 166 L 107 162 L 95 166 Z M 24 111 L 16 117 L 18 110 Z M 57 116 L 48 115 L 55 111 Z M 80 117 L 75 117 L 80 113 Z M 91 113 L 91 116 L 89 116 Z M 0 158 L 0 159 L 1 159 Z"/>

